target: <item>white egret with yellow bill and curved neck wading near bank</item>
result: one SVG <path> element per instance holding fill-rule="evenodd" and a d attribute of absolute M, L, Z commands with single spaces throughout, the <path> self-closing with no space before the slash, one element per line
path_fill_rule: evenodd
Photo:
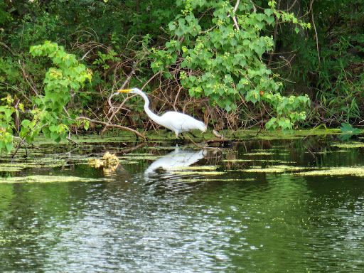
<path fill-rule="evenodd" d="M 207 129 L 206 125 L 203 122 L 200 122 L 199 120 L 188 116 L 188 114 L 182 114 L 175 111 L 168 111 L 161 116 L 154 114 L 154 112 L 151 112 L 151 109 L 149 109 L 148 97 L 143 91 L 139 90 L 138 88 L 117 90 L 117 92 L 127 92 L 130 94 L 141 95 L 141 97 L 143 97 L 144 99 L 144 111 L 146 112 L 146 114 L 157 124 L 162 125 L 173 131 L 174 134 L 176 134 L 176 138 L 181 132 L 189 132 L 195 129 L 205 132 Z"/>

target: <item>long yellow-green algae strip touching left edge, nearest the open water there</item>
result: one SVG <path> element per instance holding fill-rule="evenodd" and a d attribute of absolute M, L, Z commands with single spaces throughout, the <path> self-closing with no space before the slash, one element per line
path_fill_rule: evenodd
<path fill-rule="evenodd" d="M 54 182 L 95 182 L 105 178 L 83 178 L 77 176 L 25 176 L 1 178 L 0 183 L 54 183 Z"/>

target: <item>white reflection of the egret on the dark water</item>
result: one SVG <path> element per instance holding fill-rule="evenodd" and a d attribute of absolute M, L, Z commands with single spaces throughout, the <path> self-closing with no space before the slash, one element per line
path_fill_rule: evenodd
<path fill-rule="evenodd" d="M 179 149 L 177 147 L 174 151 L 171 151 L 171 153 L 154 161 L 148 168 L 146 168 L 144 175 L 149 176 L 156 172 L 159 168 L 168 173 L 168 171 L 176 170 L 176 168 L 190 166 L 204 157 L 205 151 L 202 149 L 200 151 L 193 151 L 189 149 Z"/>

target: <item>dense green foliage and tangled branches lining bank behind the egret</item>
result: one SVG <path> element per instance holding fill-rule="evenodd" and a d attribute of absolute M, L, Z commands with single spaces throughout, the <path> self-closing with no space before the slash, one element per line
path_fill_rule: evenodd
<path fill-rule="evenodd" d="M 127 85 L 152 91 L 154 111 L 174 108 L 215 129 L 360 124 L 363 8 L 348 0 L 0 0 L 0 149 L 40 132 L 64 139 L 87 128 L 80 116 L 149 128 L 140 98 L 108 100 Z"/>

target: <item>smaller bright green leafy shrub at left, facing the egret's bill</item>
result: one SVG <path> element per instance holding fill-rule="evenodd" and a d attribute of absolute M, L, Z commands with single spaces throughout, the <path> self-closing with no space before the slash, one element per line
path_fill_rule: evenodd
<path fill-rule="evenodd" d="M 44 136 L 54 141 L 65 139 L 70 126 L 75 124 L 77 109 L 67 109 L 72 93 L 75 94 L 82 88 L 85 80 L 91 80 L 92 73 L 85 65 L 78 63 L 75 55 L 65 53 L 62 46 L 57 43 L 45 42 L 43 45 L 31 47 L 31 55 L 50 58 L 53 67 L 49 68 L 44 78 L 44 95 L 37 94 L 33 99 L 31 119 L 21 121 L 21 129 L 18 136 L 29 143 L 34 137 L 43 132 Z M 18 109 L 23 110 L 23 105 L 13 106 L 14 98 L 6 97 L 4 105 L 0 106 L 0 149 L 11 151 L 16 132 L 16 117 Z M 86 124 L 87 127 L 87 124 Z"/>

